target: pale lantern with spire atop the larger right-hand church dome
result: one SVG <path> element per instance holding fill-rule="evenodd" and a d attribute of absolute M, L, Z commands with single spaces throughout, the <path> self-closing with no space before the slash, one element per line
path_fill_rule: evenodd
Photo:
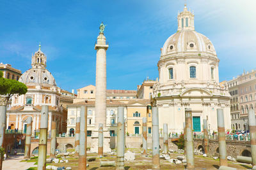
<path fill-rule="evenodd" d="M 178 31 L 184 29 L 195 30 L 194 26 L 194 15 L 191 11 L 188 11 L 187 4 L 184 5 L 184 10 L 178 13 Z"/>

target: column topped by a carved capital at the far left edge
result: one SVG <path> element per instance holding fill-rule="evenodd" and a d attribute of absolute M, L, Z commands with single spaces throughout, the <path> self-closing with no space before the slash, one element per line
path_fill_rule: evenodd
<path fill-rule="evenodd" d="M 6 129 L 6 106 L 8 98 L 0 96 L 0 146 L 4 147 L 4 134 Z M 3 157 L 0 157 L 0 170 L 2 169 Z"/>

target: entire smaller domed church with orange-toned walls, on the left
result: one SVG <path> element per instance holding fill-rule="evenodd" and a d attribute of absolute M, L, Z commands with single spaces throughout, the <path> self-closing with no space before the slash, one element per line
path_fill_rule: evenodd
<path fill-rule="evenodd" d="M 40 47 L 32 56 L 31 69 L 23 73 L 19 81 L 26 84 L 28 92 L 12 97 L 11 108 L 6 114 L 6 129 L 26 131 L 26 120 L 32 117 L 32 135 L 40 128 L 42 105 L 49 106 L 48 131 L 56 121 L 57 133 L 66 132 L 67 110 L 61 106 L 60 88 L 52 74 L 46 69 L 46 56 Z"/>

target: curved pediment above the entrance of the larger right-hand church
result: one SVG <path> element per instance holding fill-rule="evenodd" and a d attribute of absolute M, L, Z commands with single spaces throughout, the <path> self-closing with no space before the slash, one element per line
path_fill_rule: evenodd
<path fill-rule="evenodd" d="M 201 88 L 191 88 L 191 89 L 186 89 L 184 92 L 180 94 L 180 96 L 193 96 L 193 97 L 211 97 L 212 94 L 208 90 L 201 89 Z"/>

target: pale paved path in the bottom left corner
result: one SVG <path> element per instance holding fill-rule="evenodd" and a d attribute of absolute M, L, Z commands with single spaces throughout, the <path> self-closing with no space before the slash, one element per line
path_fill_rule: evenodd
<path fill-rule="evenodd" d="M 4 170 L 26 170 L 29 167 L 36 167 L 35 162 L 20 162 L 24 158 L 24 154 L 20 155 L 11 155 L 10 158 L 7 158 L 3 161 Z"/>

